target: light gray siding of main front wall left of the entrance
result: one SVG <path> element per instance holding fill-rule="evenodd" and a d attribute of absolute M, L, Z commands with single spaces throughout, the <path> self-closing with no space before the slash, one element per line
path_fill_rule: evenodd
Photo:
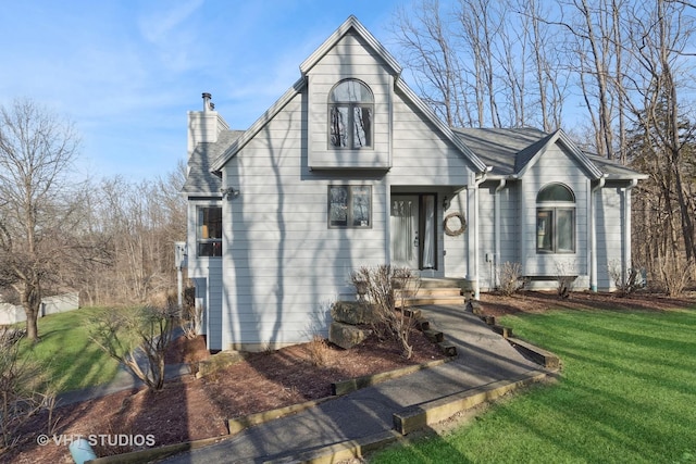
<path fill-rule="evenodd" d="M 223 348 L 324 334 L 331 302 L 351 292 L 351 271 L 386 262 L 386 184 L 309 170 L 306 98 L 298 95 L 224 168 L 240 195 L 223 209 Z M 372 228 L 328 228 L 328 186 L 348 184 L 372 186 Z"/>

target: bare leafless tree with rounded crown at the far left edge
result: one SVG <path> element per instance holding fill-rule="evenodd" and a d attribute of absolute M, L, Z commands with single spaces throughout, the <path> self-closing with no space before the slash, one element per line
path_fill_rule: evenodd
<path fill-rule="evenodd" d="M 0 286 L 18 293 L 30 340 L 38 339 L 41 298 L 74 218 L 67 175 L 78 145 L 71 123 L 32 100 L 0 106 Z"/>

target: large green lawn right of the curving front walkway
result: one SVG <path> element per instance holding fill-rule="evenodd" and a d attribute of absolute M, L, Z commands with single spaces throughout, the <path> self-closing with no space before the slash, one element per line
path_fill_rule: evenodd
<path fill-rule="evenodd" d="M 554 311 L 501 323 L 558 354 L 560 380 L 371 464 L 696 463 L 696 311 Z"/>

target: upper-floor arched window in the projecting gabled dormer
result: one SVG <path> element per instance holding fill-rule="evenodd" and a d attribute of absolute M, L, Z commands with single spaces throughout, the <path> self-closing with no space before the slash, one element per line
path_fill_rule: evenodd
<path fill-rule="evenodd" d="M 328 93 L 328 146 L 359 149 L 372 147 L 374 98 L 358 79 L 345 79 Z"/>

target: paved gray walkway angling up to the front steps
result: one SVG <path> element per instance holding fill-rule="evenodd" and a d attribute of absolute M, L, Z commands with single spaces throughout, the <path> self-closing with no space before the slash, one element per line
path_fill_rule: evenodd
<path fill-rule="evenodd" d="M 364 450 L 371 443 L 394 439 L 398 435 L 394 414 L 451 401 L 486 386 L 538 376 L 543 371 L 462 306 L 421 310 L 431 328 L 443 331 L 445 340 L 457 347 L 455 361 L 338 397 L 161 462 L 289 463 L 326 454 L 331 459 L 324 462 L 336 462 L 340 455 L 335 453 L 340 449 L 359 443 Z"/>

